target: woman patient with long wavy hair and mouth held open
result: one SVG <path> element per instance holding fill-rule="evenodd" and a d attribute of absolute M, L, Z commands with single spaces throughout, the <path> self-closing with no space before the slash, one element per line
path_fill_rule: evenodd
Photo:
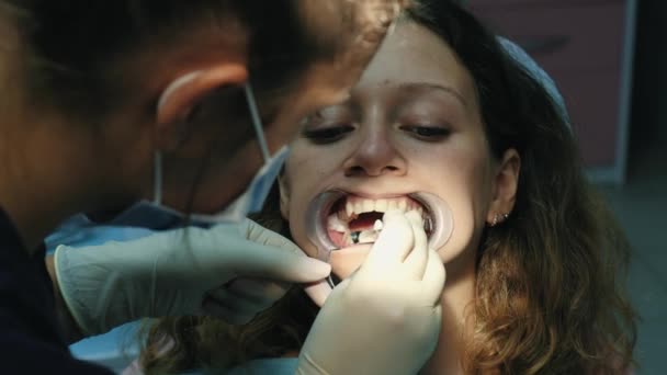
<path fill-rule="evenodd" d="M 418 211 L 448 273 L 439 344 L 422 374 L 625 373 L 635 341 L 622 288 L 630 252 L 584 177 L 566 120 L 471 15 L 422 2 L 351 98 L 305 121 L 256 219 L 312 257 L 340 248 L 330 261 L 344 279 L 383 212 Z M 313 202 L 327 192 L 336 193 L 315 218 L 328 238 L 314 238 Z M 287 374 L 317 310 L 294 288 L 240 327 L 161 319 L 140 364 Z"/>

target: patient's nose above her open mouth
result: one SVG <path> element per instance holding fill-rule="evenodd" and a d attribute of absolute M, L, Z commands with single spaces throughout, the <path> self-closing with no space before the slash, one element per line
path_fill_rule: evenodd
<path fill-rule="evenodd" d="M 391 129 L 384 124 L 368 126 L 357 149 L 346 160 L 347 177 L 400 175 L 406 171 L 406 162 L 391 137 Z"/>

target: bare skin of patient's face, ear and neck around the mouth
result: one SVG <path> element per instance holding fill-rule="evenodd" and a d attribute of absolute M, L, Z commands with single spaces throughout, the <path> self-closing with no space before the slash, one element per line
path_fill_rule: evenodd
<path fill-rule="evenodd" d="M 326 137 L 317 138 L 317 132 L 327 134 L 323 129 L 336 136 L 323 144 Z M 293 143 L 281 178 L 281 209 L 296 243 L 315 257 L 305 213 L 323 192 L 369 198 L 428 192 L 446 202 L 454 231 L 437 249 L 448 272 L 442 331 L 425 372 L 461 373 L 476 250 L 494 217 L 511 212 L 519 169 L 515 150 L 499 160 L 490 155 L 473 79 L 453 50 L 422 26 L 404 22 L 385 39 L 350 100 L 312 116 Z M 348 276 L 369 250 L 334 251 L 334 272 Z"/>

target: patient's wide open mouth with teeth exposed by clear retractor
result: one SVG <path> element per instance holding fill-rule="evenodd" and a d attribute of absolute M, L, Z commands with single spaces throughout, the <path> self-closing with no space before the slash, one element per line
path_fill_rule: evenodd
<path fill-rule="evenodd" d="M 340 191 L 320 194 L 306 215 L 308 237 L 323 257 L 327 252 L 377 240 L 387 211 L 415 211 L 423 223 L 429 246 L 439 249 L 452 231 L 449 206 L 429 193 L 414 193 L 399 197 L 371 200 Z"/>

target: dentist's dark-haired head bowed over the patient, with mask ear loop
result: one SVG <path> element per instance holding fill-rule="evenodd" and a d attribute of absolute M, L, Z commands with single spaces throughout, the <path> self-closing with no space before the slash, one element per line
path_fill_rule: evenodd
<path fill-rule="evenodd" d="M 12 215 L 29 238 L 139 198 L 219 212 L 346 96 L 400 3 L 0 1 L 5 211 L 39 206 L 44 228 Z"/>

